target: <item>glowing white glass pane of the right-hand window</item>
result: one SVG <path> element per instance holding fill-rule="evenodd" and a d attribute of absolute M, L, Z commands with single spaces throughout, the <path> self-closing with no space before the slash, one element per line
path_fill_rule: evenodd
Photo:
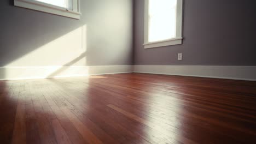
<path fill-rule="evenodd" d="M 177 0 L 149 0 L 149 42 L 176 37 Z"/>

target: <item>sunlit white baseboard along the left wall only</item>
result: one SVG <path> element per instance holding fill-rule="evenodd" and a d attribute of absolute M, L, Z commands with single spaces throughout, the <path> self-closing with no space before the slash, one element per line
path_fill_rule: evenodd
<path fill-rule="evenodd" d="M 0 80 L 45 79 L 102 74 L 132 73 L 132 65 L 0 67 Z"/>

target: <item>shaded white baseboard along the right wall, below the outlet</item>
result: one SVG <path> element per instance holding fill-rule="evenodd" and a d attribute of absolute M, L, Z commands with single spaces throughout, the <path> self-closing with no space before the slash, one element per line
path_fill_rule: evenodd
<path fill-rule="evenodd" d="M 135 73 L 256 81 L 256 66 L 133 65 Z"/>

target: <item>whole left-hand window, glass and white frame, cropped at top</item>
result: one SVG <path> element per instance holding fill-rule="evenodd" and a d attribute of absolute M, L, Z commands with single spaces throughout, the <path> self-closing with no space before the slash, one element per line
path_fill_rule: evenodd
<path fill-rule="evenodd" d="M 80 19 L 79 0 L 14 0 L 17 7 Z"/>

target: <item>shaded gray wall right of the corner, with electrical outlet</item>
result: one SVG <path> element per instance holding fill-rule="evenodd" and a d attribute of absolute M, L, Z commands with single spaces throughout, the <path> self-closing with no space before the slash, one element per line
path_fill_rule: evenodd
<path fill-rule="evenodd" d="M 134 2 L 135 64 L 256 65 L 255 1 L 184 0 L 183 44 L 153 49 L 142 45 L 144 1 Z"/>

